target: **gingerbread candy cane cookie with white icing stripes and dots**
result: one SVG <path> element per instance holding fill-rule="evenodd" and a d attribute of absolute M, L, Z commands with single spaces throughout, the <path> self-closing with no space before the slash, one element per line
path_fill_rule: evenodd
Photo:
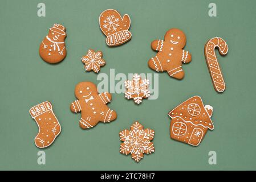
<path fill-rule="evenodd" d="M 229 49 L 227 47 L 227 43 L 222 38 L 212 38 L 205 44 L 205 59 L 213 81 L 214 89 L 217 92 L 224 92 L 226 85 L 221 73 L 220 66 L 218 64 L 216 54 L 214 52 L 216 47 L 218 48 L 221 55 L 226 55 Z"/>

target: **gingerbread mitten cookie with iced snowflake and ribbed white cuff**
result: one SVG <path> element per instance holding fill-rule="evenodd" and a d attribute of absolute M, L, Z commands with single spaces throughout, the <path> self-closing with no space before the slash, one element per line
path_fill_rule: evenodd
<path fill-rule="evenodd" d="M 100 14 L 99 23 L 101 31 L 107 36 L 108 46 L 119 46 L 132 38 L 129 32 L 131 19 L 127 14 L 122 18 L 116 10 L 108 9 Z"/>

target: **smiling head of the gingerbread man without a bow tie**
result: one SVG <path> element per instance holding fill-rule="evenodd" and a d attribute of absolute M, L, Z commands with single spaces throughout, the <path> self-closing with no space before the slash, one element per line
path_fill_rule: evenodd
<path fill-rule="evenodd" d="M 179 48 L 183 48 L 186 44 L 186 36 L 181 30 L 177 28 L 172 28 L 166 32 L 165 41 L 172 46 L 177 46 Z"/>

